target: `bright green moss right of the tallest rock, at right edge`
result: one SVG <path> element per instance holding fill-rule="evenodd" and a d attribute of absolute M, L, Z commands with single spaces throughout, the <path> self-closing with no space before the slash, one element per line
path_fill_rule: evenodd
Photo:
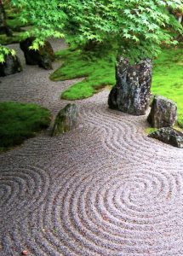
<path fill-rule="evenodd" d="M 152 93 L 177 103 L 178 123 L 183 128 L 183 44 L 175 49 L 163 49 L 154 61 Z"/>

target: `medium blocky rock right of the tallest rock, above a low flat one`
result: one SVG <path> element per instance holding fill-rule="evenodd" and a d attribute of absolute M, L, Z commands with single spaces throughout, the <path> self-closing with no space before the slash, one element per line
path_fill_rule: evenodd
<path fill-rule="evenodd" d="M 155 128 L 171 127 L 177 118 L 177 106 L 163 96 L 155 96 L 147 121 Z"/>

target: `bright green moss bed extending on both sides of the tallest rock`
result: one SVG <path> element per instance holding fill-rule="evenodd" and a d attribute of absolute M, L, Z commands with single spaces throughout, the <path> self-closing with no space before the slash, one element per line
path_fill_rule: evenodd
<path fill-rule="evenodd" d="M 51 74 L 54 81 L 84 78 L 61 94 L 66 100 L 93 96 L 106 85 L 115 84 L 115 55 L 83 55 L 81 50 L 64 49 L 56 53 L 62 66 Z M 183 45 L 163 49 L 153 63 L 152 93 L 166 96 L 177 102 L 179 125 L 183 128 Z"/>

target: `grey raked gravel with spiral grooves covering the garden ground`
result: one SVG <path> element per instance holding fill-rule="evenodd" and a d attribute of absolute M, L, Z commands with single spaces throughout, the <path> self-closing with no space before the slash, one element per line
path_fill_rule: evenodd
<path fill-rule="evenodd" d="M 57 113 L 72 81 L 49 73 L 24 64 L 0 100 Z M 146 137 L 146 116 L 109 110 L 108 93 L 76 102 L 76 130 L 0 155 L 1 256 L 183 255 L 183 150 Z"/>

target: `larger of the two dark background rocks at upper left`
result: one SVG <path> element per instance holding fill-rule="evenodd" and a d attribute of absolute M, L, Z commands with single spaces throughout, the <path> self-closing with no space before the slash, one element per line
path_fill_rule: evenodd
<path fill-rule="evenodd" d="M 38 65 L 44 69 L 52 69 L 52 61 L 54 61 L 54 50 L 48 41 L 38 50 L 29 49 L 35 38 L 26 38 L 20 42 L 20 49 L 23 50 L 27 65 Z"/>

